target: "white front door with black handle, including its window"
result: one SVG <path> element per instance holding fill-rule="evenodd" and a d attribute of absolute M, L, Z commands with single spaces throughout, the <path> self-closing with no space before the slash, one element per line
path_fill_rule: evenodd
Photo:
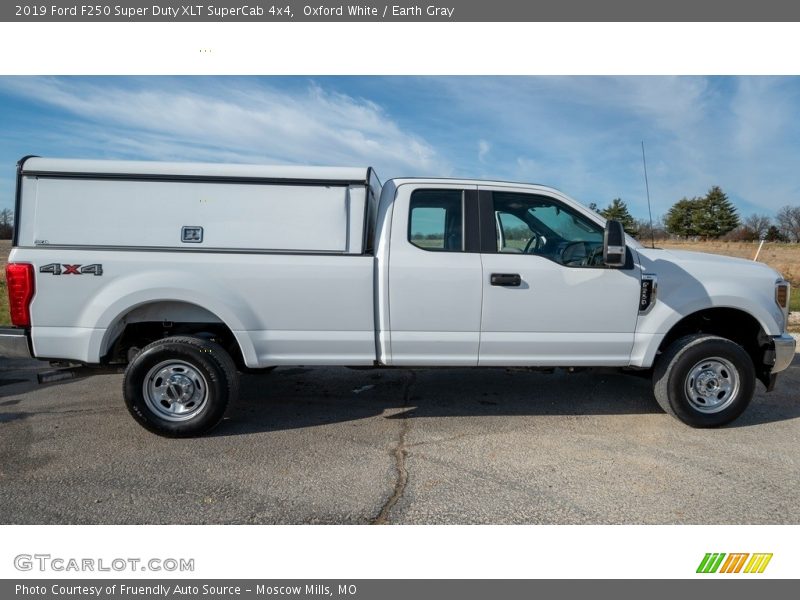
<path fill-rule="evenodd" d="M 632 258 L 606 267 L 603 228 L 566 199 L 487 187 L 480 211 L 479 364 L 627 365 L 641 285 Z"/>

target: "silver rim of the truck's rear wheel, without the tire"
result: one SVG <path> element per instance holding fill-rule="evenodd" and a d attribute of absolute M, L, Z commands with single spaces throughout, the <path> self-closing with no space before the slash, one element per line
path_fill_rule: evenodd
<path fill-rule="evenodd" d="M 167 360 L 145 375 L 142 393 L 147 407 L 168 421 L 186 421 L 208 402 L 203 374 L 188 362 Z"/>

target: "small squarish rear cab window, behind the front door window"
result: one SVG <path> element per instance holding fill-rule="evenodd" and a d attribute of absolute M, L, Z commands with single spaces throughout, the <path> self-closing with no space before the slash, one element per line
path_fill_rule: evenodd
<path fill-rule="evenodd" d="M 409 210 L 409 242 L 423 250 L 464 251 L 461 190 L 417 190 L 411 194 Z"/>

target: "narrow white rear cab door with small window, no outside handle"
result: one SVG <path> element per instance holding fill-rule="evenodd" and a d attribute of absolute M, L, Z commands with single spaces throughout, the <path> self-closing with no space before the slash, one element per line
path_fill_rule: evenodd
<path fill-rule="evenodd" d="M 390 364 L 478 364 L 477 209 L 476 187 L 398 187 L 389 248 Z"/>

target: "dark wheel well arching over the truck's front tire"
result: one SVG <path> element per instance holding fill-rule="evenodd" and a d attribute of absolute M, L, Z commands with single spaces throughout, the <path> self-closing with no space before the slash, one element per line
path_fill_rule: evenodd
<path fill-rule="evenodd" d="M 736 308 L 707 308 L 678 321 L 664 337 L 658 348 L 666 350 L 672 342 L 686 335 L 708 333 L 739 344 L 750 355 L 758 378 L 769 385 L 769 367 L 764 364 L 764 352 L 770 338 L 751 314 Z"/>

